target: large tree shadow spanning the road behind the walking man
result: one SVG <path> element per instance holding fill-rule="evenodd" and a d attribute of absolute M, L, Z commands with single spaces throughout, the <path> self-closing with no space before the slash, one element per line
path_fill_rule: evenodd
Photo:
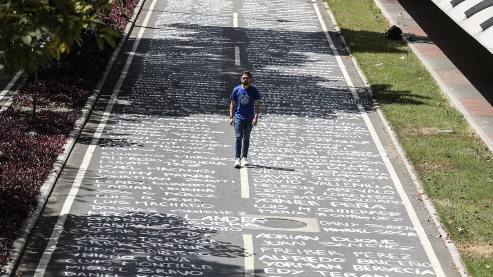
<path fill-rule="evenodd" d="M 261 115 L 333 119 L 337 112 L 358 112 L 355 104 L 345 102 L 353 96 L 349 87 L 339 85 L 344 78 L 335 73 L 338 65 L 327 63 L 326 58 L 333 52 L 320 39 L 325 36 L 323 32 L 198 24 L 152 28 L 156 33 L 172 29 L 176 34 L 166 39 L 156 36 L 140 40 L 108 125 L 139 124 L 142 119 L 142 124 L 154 122 L 159 132 L 166 133 L 175 131 L 166 126 L 170 119 L 197 115 L 228 117 L 231 90 L 239 84 L 239 72 L 248 69 L 254 76 L 253 85 L 262 94 Z M 312 47 L 306 47 L 306 41 Z M 129 38 L 127 45 L 133 42 Z M 272 48 L 264 47 L 266 44 Z M 244 65 L 235 65 L 235 45 L 244 52 L 240 57 Z M 325 69 L 322 74 L 320 68 Z M 106 98 L 108 90 L 111 88 L 103 90 Z M 360 97 L 367 97 L 364 87 L 356 90 Z M 120 131 L 124 136 L 124 130 Z M 89 140 L 80 142 L 89 143 Z M 143 147 L 124 137 L 107 136 L 100 140 L 100 146 Z"/>

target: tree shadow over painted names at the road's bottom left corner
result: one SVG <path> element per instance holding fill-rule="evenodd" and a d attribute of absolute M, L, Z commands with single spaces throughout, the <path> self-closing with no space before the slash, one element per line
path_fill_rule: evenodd
<path fill-rule="evenodd" d="M 254 255 L 237 245 L 241 241 L 225 241 L 220 231 L 193 225 L 173 214 L 109 211 L 68 215 L 46 276 L 95 272 L 120 276 L 175 275 L 180 273 L 177 271 L 188 271 L 192 275 L 242 277 L 244 257 Z M 47 226 L 54 225 L 57 218 L 42 220 Z M 36 230 L 33 237 L 37 242 L 46 242 L 51 235 L 46 231 Z M 42 252 L 26 256 L 25 262 L 31 264 L 32 260 L 31 270 L 36 269 L 39 260 L 36 256 Z M 260 275 L 263 270 L 255 272 Z"/>

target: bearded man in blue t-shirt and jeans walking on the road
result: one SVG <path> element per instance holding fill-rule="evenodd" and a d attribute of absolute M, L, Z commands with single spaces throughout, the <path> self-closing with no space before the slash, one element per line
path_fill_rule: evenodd
<path fill-rule="evenodd" d="M 252 74 L 249 71 L 241 72 L 241 85 L 236 86 L 231 94 L 231 106 L 229 107 L 229 124 L 234 126 L 236 134 L 234 167 L 249 165 L 248 147 L 250 146 L 250 132 L 257 125 L 260 113 L 259 90 L 253 85 Z M 255 107 L 255 113 L 254 113 Z M 243 149 L 241 149 L 241 140 Z M 241 158 L 241 159 L 240 159 Z"/>

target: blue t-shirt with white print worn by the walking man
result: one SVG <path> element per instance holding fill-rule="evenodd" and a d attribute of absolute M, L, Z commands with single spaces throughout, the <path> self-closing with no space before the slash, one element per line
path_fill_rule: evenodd
<path fill-rule="evenodd" d="M 255 117 L 255 101 L 260 99 L 259 90 L 250 85 L 243 89 L 241 85 L 233 88 L 233 93 L 229 98 L 236 101 L 236 111 L 234 117 L 243 120 L 252 120 Z"/>

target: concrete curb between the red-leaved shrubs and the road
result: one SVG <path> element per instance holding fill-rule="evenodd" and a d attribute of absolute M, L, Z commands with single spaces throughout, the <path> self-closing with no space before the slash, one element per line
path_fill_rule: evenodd
<path fill-rule="evenodd" d="M 61 170 L 63 166 L 65 165 L 68 155 L 70 154 L 70 151 L 72 150 L 73 146 L 75 145 L 75 142 L 80 135 L 80 132 L 82 131 L 84 125 L 86 124 L 87 120 L 89 119 L 89 116 L 91 115 L 91 112 L 93 111 L 94 106 L 96 105 L 96 102 L 99 98 L 99 95 L 101 94 L 101 89 L 103 88 L 103 85 L 106 82 L 106 79 L 110 75 L 111 70 L 113 69 L 114 65 L 116 64 L 117 58 L 120 55 L 123 46 L 125 45 L 128 36 L 130 35 L 130 32 L 132 31 L 132 28 L 135 24 L 135 20 L 137 19 L 138 15 L 140 14 L 142 10 L 142 6 L 145 0 L 140 0 L 137 6 L 135 7 L 135 12 L 133 17 L 130 19 L 128 22 L 127 26 L 125 27 L 125 30 L 123 32 L 122 38 L 120 40 L 120 43 L 118 44 L 118 47 L 113 51 L 113 54 L 106 65 L 105 73 L 103 75 L 103 78 L 100 79 L 98 84 L 96 85 L 95 89 L 93 90 L 93 93 L 91 96 L 89 96 L 86 105 L 84 106 L 84 109 L 82 110 L 82 114 L 80 117 L 75 121 L 75 126 L 72 129 L 72 132 L 67 137 L 67 142 L 63 146 L 63 153 L 60 154 L 53 166 L 52 172 L 48 175 L 48 178 L 46 181 L 43 183 L 43 186 L 40 189 L 40 193 L 38 196 L 38 205 L 36 206 L 35 210 L 29 213 L 28 217 L 24 221 L 22 228 L 19 232 L 18 238 L 14 241 L 13 247 L 10 251 L 11 256 L 13 257 L 13 260 L 9 263 L 7 263 L 4 266 L 4 270 L 6 271 L 4 274 L 0 275 L 0 277 L 13 277 L 15 274 L 15 269 L 19 265 L 19 262 L 21 261 L 21 256 L 26 249 L 26 244 L 29 239 L 29 236 L 36 225 L 36 222 L 38 221 L 39 217 L 41 216 L 41 213 L 43 212 L 43 209 L 46 205 L 46 202 L 48 201 L 48 197 L 51 194 L 51 191 L 53 190 L 55 186 L 55 182 L 58 179 L 58 176 L 61 173 Z M 9 104 L 10 106 L 10 104 Z M 8 108 L 8 107 L 7 107 Z M 6 109 L 7 109 L 6 108 Z"/>

